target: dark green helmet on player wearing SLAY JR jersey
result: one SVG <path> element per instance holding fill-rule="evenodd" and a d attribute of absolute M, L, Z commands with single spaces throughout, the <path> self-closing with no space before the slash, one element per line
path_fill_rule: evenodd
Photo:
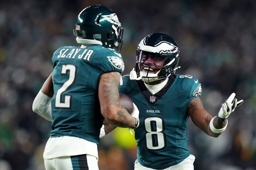
<path fill-rule="evenodd" d="M 98 44 L 120 51 L 123 31 L 116 14 L 103 5 L 92 5 L 77 16 L 75 29 L 77 43 Z"/>

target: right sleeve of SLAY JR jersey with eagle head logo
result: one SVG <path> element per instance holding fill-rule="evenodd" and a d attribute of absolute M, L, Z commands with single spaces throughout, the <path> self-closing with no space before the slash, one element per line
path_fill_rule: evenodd
<path fill-rule="evenodd" d="M 124 71 L 123 57 L 117 51 L 105 48 L 97 51 L 96 55 L 93 63 L 101 74 L 113 71 L 122 73 Z"/>

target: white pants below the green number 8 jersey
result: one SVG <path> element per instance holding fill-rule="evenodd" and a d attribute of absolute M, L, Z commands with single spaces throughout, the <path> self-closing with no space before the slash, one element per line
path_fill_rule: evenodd
<path fill-rule="evenodd" d="M 177 165 L 173 165 L 162 170 L 194 170 L 194 165 L 193 165 L 194 161 L 195 161 L 195 156 L 189 155 L 188 158 L 184 159 Z M 155 169 L 142 166 L 138 162 L 138 159 L 136 159 L 136 161 L 134 162 L 134 170 L 155 170 Z"/>

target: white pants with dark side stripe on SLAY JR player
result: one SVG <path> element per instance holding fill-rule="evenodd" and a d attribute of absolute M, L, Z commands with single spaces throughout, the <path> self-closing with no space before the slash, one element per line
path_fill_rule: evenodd
<path fill-rule="evenodd" d="M 46 170 L 99 170 L 97 158 L 86 154 L 44 159 L 44 166 Z"/>

